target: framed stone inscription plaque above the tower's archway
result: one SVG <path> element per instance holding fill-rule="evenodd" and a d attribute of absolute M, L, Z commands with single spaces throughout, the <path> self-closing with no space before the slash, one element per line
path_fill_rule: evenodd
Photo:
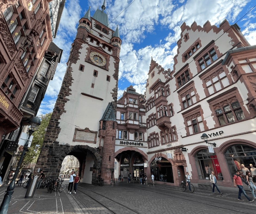
<path fill-rule="evenodd" d="M 73 141 L 96 143 L 97 133 L 97 131 L 91 131 L 89 128 L 75 128 Z"/>

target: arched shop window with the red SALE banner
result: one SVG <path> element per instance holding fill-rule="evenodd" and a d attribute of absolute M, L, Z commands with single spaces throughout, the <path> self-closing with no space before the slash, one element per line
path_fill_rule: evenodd
<path fill-rule="evenodd" d="M 214 171 L 217 180 L 223 180 L 220 165 L 215 153 L 209 153 L 208 150 L 200 150 L 196 156 L 196 168 L 199 179 L 209 179 L 211 171 Z"/>

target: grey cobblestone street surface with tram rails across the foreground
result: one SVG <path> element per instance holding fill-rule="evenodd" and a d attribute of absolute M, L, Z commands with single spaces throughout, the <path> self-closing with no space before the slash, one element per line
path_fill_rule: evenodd
<path fill-rule="evenodd" d="M 221 189 L 221 187 L 220 187 Z M 2 201 L 6 188 L 0 189 Z M 26 189 L 17 187 L 8 213 L 86 213 L 86 214 L 151 214 L 151 213 L 255 213 L 256 200 L 249 203 L 237 200 L 238 189 L 224 191 L 223 195 L 211 190 L 195 188 L 194 193 L 181 191 L 169 185 L 139 185 L 119 182 L 115 186 L 103 187 L 91 184 L 78 184 L 76 194 L 47 193 L 46 189 L 36 190 L 31 199 L 25 199 Z M 248 193 L 251 197 L 251 194 Z"/>

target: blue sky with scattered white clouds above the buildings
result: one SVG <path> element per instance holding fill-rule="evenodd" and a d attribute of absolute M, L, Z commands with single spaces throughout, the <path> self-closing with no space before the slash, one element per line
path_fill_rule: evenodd
<path fill-rule="evenodd" d="M 38 114 L 51 112 L 66 71 L 71 44 L 77 33 L 78 21 L 91 7 L 91 16 L 104 0 L 66 0 L 57 37 L 53 42 L 63 49 L 62 59 L 48 86 Z M 176 42 L 180 26 L 209 20 L 212 25 L 227 19 L 237 23 L 251 45 L 256 45 L 255 0 L 106 0 L 109 27 L 118 25 L 122 46 L 120 52 L 118 98 L 133 85 L 144 94 L 151 56 L 166 70 L 173 70 Z"/>

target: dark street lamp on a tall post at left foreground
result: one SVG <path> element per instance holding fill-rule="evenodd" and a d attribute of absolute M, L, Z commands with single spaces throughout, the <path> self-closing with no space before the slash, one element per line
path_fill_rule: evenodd
<path fill-rule="evenodd" d="M 24 155 L 28 149 L 28 144 L 29 144 L 29 139 L 31 137 L 31 135 L 33 134 L 33 132 L 35 131 L 34 128 L 36 128 L 38 125 L 41 124 L 41 120 L 40 118 L 38 117 L 33 117 L 29 120 L 28 122 L 30 124 L 30 129 L 28 131 L 29 133 L 29 136 L 28 136 L 28 139 L 23 147 L 23 152 L 22 152 L 22 155 L 20 156 L 20 160 L 18 162 L 18 166 L 16 168 L 16 171 L 13 175 L 13 179 L 11 181 L 11 183 L 8 185 L 7 187 L 7 191 L 5 191 L 5 195 L 4 195 L 4 199 L 2 201 L 2 204 L 1 204 L 1 207 L 0 207 L 0 214 L 5 214 L 7 213 L 7 210 L 8 210 L 8 206 L 9 206 L 9 203 L 11 201 L 11 196 L 14 192 L 14 187 L 15 187 L 15 180 L 17 178 L 17 175 L 19 173 L 19 169 L 20 169 L 20 166 L 22 164 L 22 161 L 23 161 L 23 158 L 24 158 Z"/>

